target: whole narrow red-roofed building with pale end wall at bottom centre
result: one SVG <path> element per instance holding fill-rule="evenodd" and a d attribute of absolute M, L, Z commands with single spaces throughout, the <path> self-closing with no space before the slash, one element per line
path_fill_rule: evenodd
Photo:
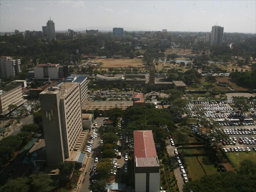
<path fill-rule="evenodd" d="M 158 192 L 160 171 L 151 130 L 134 130 L 135 192 Z"/>

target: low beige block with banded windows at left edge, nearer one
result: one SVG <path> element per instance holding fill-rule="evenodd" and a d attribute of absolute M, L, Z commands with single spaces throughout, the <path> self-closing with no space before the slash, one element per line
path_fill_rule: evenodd
<path fill-rule="evenodd" d="M 25 102 L 22 96 L 21 83 L 9 83 L 0 88 L 0 114 L 5 115 L 9 112 L 8 105 L 15 104 L 19 106 Z"/>

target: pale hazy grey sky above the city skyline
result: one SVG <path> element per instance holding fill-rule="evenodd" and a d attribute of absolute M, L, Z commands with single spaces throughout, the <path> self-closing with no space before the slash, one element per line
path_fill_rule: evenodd
<path fill-rule="evenodd" d="M 256 0 L 0 0 L 0 31 L 99 29 L 256 32 Z"/>

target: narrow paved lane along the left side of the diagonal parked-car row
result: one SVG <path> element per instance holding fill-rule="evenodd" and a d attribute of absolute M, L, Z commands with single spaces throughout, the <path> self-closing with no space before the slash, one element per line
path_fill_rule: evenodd
<path fill-rule="evenodd" d="M 174 149 L 177 149 L 177 148 L 175 146 L 170 145 L 169 139 L 165 140 L 165 143 L 166 143 L 166 148 L 167 148 L 168 154 L 169 154 L 170 159 L 171 159 L 172 164 L 173 164 L 173 170 L 174 170 L 174 174 L 175 174 L 176 179 L 177 179 L 179 191 L 182 192 L 184 181 L 183 181 L 183 178 L 181 176 L 181 172 L 179 170 L 178 162 L 176 160 L 176 156 L 175 156 L 175 153 L 174 153 Z"/>

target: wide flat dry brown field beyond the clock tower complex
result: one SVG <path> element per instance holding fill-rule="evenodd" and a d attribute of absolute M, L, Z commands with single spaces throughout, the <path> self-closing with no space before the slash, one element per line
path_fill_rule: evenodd
<path fill-rule="evenodd" d="M 102 62 L 103 64 L 100 67 L 145 67 L 142 59 L 133 58 L 133 59 L 114 59 L 114 58 L 104 58 L 104 59 L 94 59 L 94 62 Z"/>

